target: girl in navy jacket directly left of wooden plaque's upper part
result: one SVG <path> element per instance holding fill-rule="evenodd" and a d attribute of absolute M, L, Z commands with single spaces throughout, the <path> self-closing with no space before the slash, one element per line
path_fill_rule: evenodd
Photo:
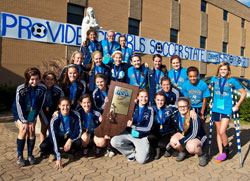
<path fill-rule="evenodd" d="M 107 79 L 103 74 L 96 74 L 95 84 L 97 88 L 93 92 L 94 108 L 103 113 L 105 102 L 108 101 Z"/>

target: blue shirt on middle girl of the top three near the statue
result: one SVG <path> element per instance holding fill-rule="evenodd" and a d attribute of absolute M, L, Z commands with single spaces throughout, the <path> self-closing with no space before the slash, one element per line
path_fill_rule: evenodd
<path fill-rule="evenodd" d="M 102 40 L 102 51 L 103 51 L 103 63 L 113 63 L 114 60 L 112 59 L 112 54 L 114 51 L 120 49 L 120 44 L 117 41 L 113 41 L 112 43 L 108 42 L 108 40 Z"/>

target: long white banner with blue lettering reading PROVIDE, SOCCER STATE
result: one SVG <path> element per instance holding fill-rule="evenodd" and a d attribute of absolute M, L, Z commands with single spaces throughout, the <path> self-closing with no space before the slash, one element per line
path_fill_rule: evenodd
<path fill-rule="evenodd" d="M 106 39 L 107 31 L 99 31 L 99 41 Z M 120 33 L 116 33 L 118 40 Z M 0 36 L 47 43 L 81 46 L 81 26 L 55 21 L 31 18 L 10 13 L 0 13 Z M 144 54 L 160 54 L 165 57 L 179 55 L 182 59 L 205 63 L 228 62 L 233 66 L 248 67 L 249 58 L 229 55 L 180 45 L 171 42 L 126 35 L 127 46 Z"/>

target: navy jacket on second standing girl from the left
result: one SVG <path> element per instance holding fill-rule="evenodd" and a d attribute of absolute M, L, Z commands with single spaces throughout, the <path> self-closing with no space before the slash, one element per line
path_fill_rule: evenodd
<path fill-rule="evenodd" d="M 64 93 L 62 91 L 62 89 L 60 87 L 58 87 L 57 85 L 54 85 L 53 87 L 51 87 L 50 91 L 51 91 L 51 105 L 47 105 L 47 99 L 49 99 L 50 97 L 48 96 L 48 91 L 46 91 L 46 97 L 45 97 L 45 102 L 43 104 L 42 110 L 39 113 L 39 116 L 43 119 L 44 123 L 46 124 L 46 126 L 49 124 L 49 121 L 52 118 L 52 114 L 57 110 L 57 106 L 58 106 L 58 101 L 61 97 L 64 97 Z"/>

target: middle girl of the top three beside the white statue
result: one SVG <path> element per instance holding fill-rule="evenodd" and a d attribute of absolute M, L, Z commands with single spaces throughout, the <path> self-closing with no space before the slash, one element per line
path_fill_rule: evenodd
<path fill-rule="evenodd" d="M 109 64 L 113 63 L 112 54 L 114 51 L 120 49 L 119 42 L 115 41 L 115 32 L 113 30 L 109 30 L 107 32 L 107 39 L 101 41 L 102 51 L 103 51 L 103 63 Z"/>

